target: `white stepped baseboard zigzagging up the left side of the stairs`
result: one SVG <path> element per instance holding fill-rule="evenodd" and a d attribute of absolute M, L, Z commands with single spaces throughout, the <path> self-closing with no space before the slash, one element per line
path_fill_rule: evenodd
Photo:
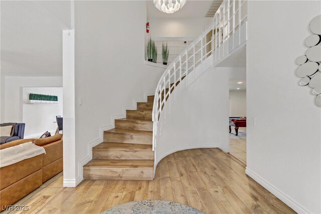
<path fill-rule="evenodd" d="M 144 93 L 144 99 L 133 99 L 132 106 L 123 106 L 121 114 L 115 114 L 110 116 L 110 125 L 99 127 L 99 138 L 90 142 L 87 148 L 87 156 L 84 157 L 80 162 L 78 162 L 78 176 L 76 179 L 64 179 L 65 187 L 75 187 L 77 186 L 83 179 L 83 166 L 88 163 L 92 159 L 92 147 L 98 145 L 103 142 L 104 131 L 115 128 L 115 120 L 126 117 L 126 110 L 135 110 L 138 102 L 147 102 L 147 96 L 152 96 L 154 93 Z"/>

